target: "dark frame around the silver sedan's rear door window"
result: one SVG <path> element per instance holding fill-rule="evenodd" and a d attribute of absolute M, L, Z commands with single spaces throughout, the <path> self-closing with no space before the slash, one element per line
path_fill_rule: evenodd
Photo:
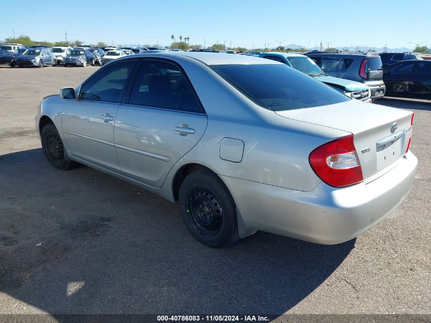
<path fill-rule="evenodd" d="M 194 89 L 193 84 L 191 83 L 189 77 L 187 76 L 186 71 L 184 70 L 184 68 L 178 62 L 176 62 L 174 60 L 171 60 L 171 59 L 161 58 L 161 57 L 140 57 L 139 60 L 140 60 L 140 63 L 137 64 L 137 66 L 136 66 L 136 71 L 133 74 L 133 76 L 132 76 L 132 78 L 131 78 L 131 80 L 129 82 L 129 85 L 128 85 L 127 89 L 126 89 L 126 92 L 124 93 L 123 100 L 122 100 L 121 104 L 123 104 L 123 105 L 129 105 L 129 106 L 134 106 L 134 107 L 163 109 L 163 110 L 168 110 L 168 111 L 177 111 L 177 112 L 184 112 L 184 113 L 207 115 L 207 112 L 205 111 L 204 105 L 202 105 L 202 102 L 200 101 L 200 98 L 197 95 L 197 92 Z M 178 67 L 178 69 L 183 74 L 184 78 L 186 79 L 186 82 L 189 84 L 189 86 L 190 86 L 190 88 L 192 90 L 192 93 L 193 93 L 193 95 L 195 97 L 195 100 L 196 100 L 196 102 L 198 103 L 198 105 L 199 105 L 199 107 L 201 109 L 201 112 L 192 112 L 192 111 L 185 111 L 185 110 L 180 110 L 180 109 L 169 109 L 169 108 L 163 108 L 163 107 L 144 106 L 144 105 L 136 105 L 136 104 L 129 103 L 130 96 L 132 94 L 132 88 L 133 88 L 133 86 L 135 84 L 136 78 L 138 76 L 138 72 L 141 69 L 141 66 L 144 64 L 145 61 L 160 61 L 160 62 L 165 62 L 165 63 L 171 63 L 175 67 Z M 183 102 L 183 96 L 184 96 L 185 88 L 186 87 L 184 87 L 183 93 L 181 95 L 180 107 L 181 107 L 181 103 Z"/>

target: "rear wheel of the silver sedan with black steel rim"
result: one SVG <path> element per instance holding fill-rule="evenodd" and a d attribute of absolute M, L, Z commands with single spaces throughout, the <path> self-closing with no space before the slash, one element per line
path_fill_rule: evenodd
<path fill-rule="evenodd" d="M 190 233 L 210 247 L 227 247 L 238 237 L 234 199 L 223 181 L 209 170 L 197 170 L 180 186 L 179 204 Z"/>

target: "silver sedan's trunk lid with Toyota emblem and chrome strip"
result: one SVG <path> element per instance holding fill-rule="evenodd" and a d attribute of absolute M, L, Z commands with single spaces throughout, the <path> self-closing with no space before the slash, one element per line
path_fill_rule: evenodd
<path fill-rule="evenodd" d="M 365 183 L 395 167 L 404 156 L 412 134 L 412 111 L 357 100 L 275 113 L 353 134 Z M 397 124 L 395 130 L 394 123 Z"/>

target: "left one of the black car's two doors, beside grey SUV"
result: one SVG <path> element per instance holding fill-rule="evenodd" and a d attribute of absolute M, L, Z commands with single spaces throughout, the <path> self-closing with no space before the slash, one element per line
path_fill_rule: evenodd
<path fill-rule="evenodd" d="M 384 70 L 386 92 L 396 96 L 409 96 L 409 83 L 415 61 L 403 61 Z"/>

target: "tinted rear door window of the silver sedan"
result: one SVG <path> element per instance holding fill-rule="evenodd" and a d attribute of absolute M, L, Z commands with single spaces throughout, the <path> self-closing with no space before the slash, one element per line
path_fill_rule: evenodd
<path fill-rule="evenodd" d="M 202 112 L 181 70 L 172 63 L 145 60 L 130 94 L 129 103 L 188 112 Z"/>

